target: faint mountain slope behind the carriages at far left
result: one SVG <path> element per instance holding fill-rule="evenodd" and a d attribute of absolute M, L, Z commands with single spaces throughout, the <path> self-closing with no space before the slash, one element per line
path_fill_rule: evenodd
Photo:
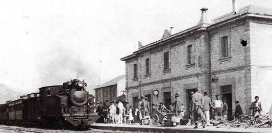
<path fill-rule="evenodd" d="M 6 103 L 8 100 L 19 99 L 20 96 L 23 95 L 22 93 L 16 92 L 2 83 L 0 83 L 0 91 L 0 104 Z"/>

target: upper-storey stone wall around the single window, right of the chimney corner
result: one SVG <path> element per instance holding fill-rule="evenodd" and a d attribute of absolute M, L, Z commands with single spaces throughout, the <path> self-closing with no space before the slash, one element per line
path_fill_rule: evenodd
<path fill-rule="evenodd" d="M 245 65 L 245 47 L 240 44 L 245 38 L 247 24 L 227 25 L 210 33 L 211 71 L 234 68 Z M 221 38 L 228 36 L 229 56 L 221 56 Z"/>

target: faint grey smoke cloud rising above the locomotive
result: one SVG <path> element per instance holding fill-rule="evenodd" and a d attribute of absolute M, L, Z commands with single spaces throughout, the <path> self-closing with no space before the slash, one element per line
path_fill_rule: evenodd
<path fill-rule="evenodd" d="M 36 84 L 38 87 L 62 85 L 70 79 L 87 82 L 87 89 L 95 86 L 98 73 L 92 69 L 91 61 L 84 60 L 80 53 L 59 47 L 54 54 L 46 55 L 46 60 L 37 66 Z"/>

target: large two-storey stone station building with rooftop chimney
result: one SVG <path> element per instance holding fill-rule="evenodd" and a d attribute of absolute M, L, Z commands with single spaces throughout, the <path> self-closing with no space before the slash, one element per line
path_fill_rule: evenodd
<path fill-rule="evenodd" d="M 168 105 L 178 93 L 188 108 L 189 93 L 198 88 L 212 99 L 216 94 L 226 99 L 230 118 L 237 100 L 244 114 L 251 114 L 256 95 L 263 113 L 271 112 L 272 9 L 233 7 L 212 20 L 203 8 L 196 26 L 174 35 L 165 30 L 161 40 L 139 45 L 121 58 L 126 62 L 127 101 L 135 108 L 145 96 L 150 103 Z"/>

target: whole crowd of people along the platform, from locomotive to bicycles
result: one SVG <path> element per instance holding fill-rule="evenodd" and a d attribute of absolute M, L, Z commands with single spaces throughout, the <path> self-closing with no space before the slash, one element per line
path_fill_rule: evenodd
<path fill-rule="evenodd" d="M 207 92 L 204 92 L 204 95 L 199 92 L 198 89 L 195 89 L 195 92 L 190 94 L 191 101 L 189 103 L 188 114 L 189 119 L 192 120 L 195 127 L 198 128 L 198 123 L 201 122 L 203 128 L 205 125 L 210 125 L 210 111 L 213 111 L 214 117 L 225 117 L 228 116 L 228 104 L 227 100 L 220 100 L 220 95 L 215 95 L 216 99 L 211 100 Z M 235 108 L 235 118 L 243 114 L 243 111 L 240 106 L 240 102 L 236 101 Z M 139 99 L 138 107 L 132 109 L 128 102 L 126 102 L 125 107 L 121 100 L 113 101 L 109 103 L 108 100 L 102 104 L 102 102 L 97 102 L 95 105 L 95 110 L 98 114 L 104 118 L 104 123 L 138 123 L 144 118 L 144 116 L 149 116 L 152 110 L 158 110 L 162 113 L 176 113 L 181 119 L 184 118 L 184 113 L 186 108 L 183 106 L 182 100 L 179 98 L 179 94 L 175 94 L 174 103 L 169 105 L 167 109 L 163 102 L 160 102 L 159 105 L 152 104 L 150 107 L 150 102 L 147 97 L 141 96 Z M 212 110 L 211 110 L 212 109 Z M 260 115 L 262 111 L 261 103 L 259 102 L 259 97 L 255 96 L 255 101 L 252 102 L 250 108 L 252 111 L 252 116 Z M 170 110 L 170 111 L 169 111 Z M 179 123 L 177 123 L 179 125 Z"/>

